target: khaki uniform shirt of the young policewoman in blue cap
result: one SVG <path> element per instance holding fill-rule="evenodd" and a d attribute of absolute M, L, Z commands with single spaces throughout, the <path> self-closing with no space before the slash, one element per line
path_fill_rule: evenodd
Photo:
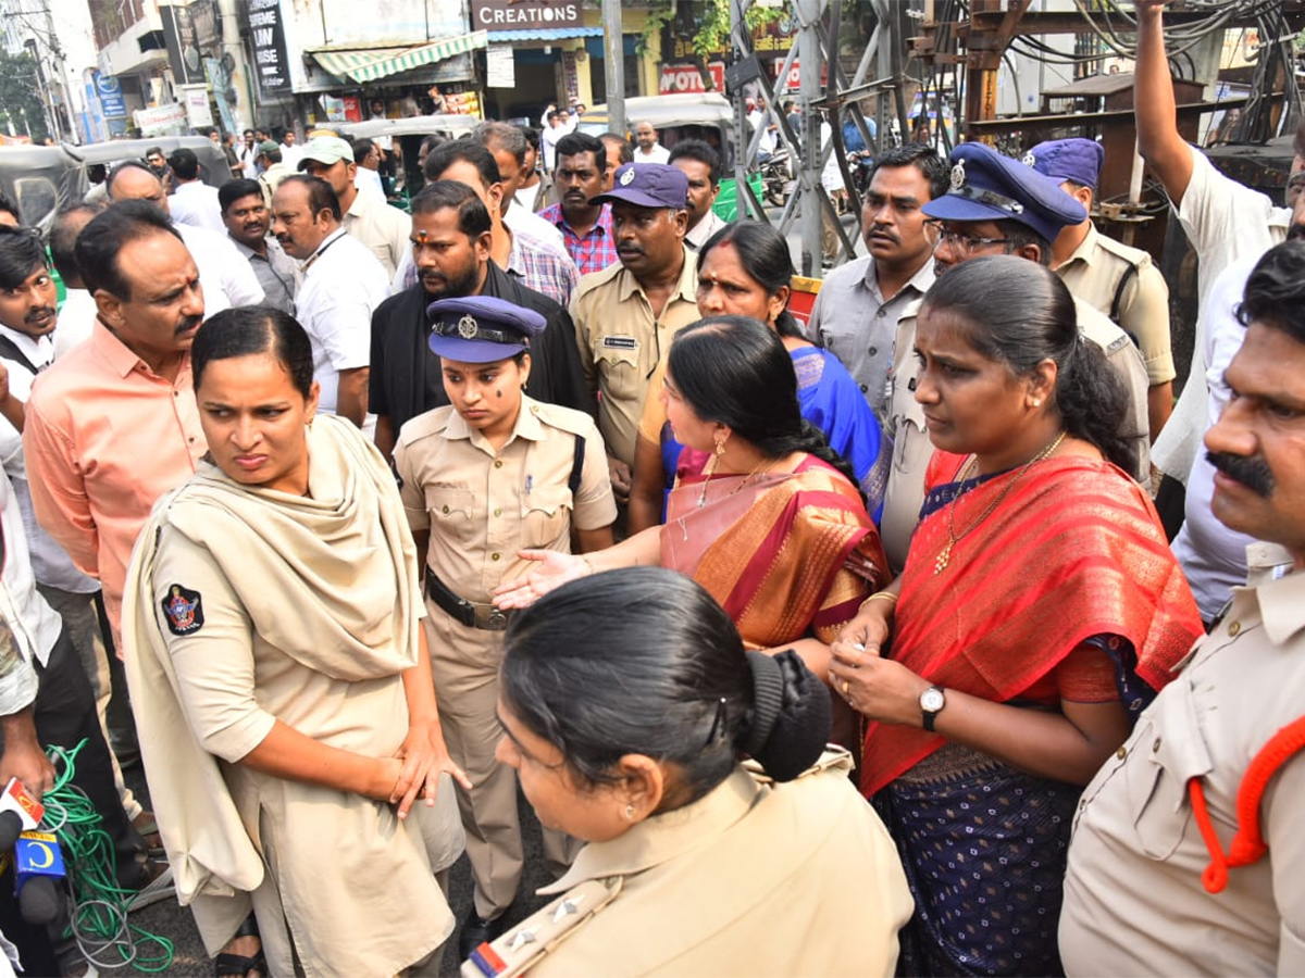
<path fill-rule="evenodd" d="M 577 438 L 585 462 L 573 496 Z M 399 429 L 394 469 L 408 526 L 431 531 L 427 565 L 467 601 L 488 602 L 495 587 L 531 566 L 519 549 L 570 553 L 573 524 L 600 529 L 616 519 L 594 420 L 529 396 L 497 451 L 452 407 L 414 417 Z"/>

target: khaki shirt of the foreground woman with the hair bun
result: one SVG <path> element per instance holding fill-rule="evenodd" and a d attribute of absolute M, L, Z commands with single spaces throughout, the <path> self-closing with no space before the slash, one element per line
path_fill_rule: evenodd
<path fill-rule="evenodd" d="M 837 750 L 780 785 L 739 768 L 589 844 L 540 891 L 564 896 L 495 940 L 488 971 L 463 962 L 463 978 L 893 974 L 914 904 L 850 771 Z"/>

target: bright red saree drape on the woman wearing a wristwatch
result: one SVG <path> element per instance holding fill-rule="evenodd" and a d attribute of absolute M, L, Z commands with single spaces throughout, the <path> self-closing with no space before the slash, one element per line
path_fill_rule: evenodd
<path fill-rule="evenodd" d="M 930 486 L 950 482 L 964 462 L 936 452 Z M 1114 466 L 1084 458 L 1047 459 L 1013 477 L 981 481 L 921 520 L 893 657 L 938 686 L 1005 703 L 1081 643 L 1112 635 L 1131 643 L 1137 675 L 1159 690 L 1202 626 L 1150 498 Z M 953 505 L 958 539 L 949 532 Z M 949 541 L 950 561 L 936 572 Z M 869 724 L 863 790 L 878 792 L 944 743 L 921 729 Z"/>

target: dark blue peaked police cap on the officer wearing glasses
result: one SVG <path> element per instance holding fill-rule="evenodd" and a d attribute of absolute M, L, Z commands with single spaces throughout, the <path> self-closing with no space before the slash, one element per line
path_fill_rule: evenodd
<path fill-rule="evenodd" d="M 1047 241 L 1087 220 L 1057 181 L 979 142 L 953 150 L 951 189 L 920 210 L 940 220 L 1018 220 Z"/>

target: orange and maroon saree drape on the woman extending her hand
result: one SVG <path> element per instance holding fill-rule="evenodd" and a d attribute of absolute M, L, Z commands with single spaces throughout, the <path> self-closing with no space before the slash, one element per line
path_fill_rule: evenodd
<path fill-rule="evenodd" d="M 885 583 L 887 561 L 855 486 L 808 456 L 782 475 L 681 468 L 667 502 L 662 566 L 706 588 L 745 645 L 771 648 L 810 631 L 837 638 Z"/>

